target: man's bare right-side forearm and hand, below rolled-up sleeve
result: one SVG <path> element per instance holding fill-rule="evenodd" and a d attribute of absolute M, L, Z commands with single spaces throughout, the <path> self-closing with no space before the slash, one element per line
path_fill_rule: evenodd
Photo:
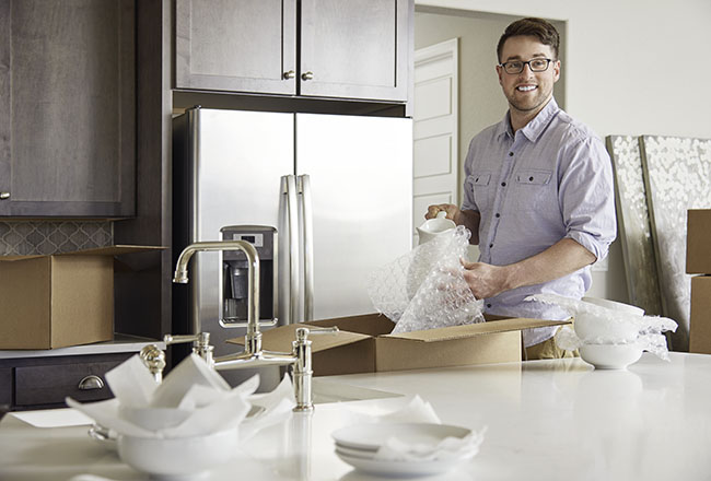
<path fill-rule="evenodd" d="M 562 238 L 540 254 L 508 266 L 462 262 L 464 279 L 476 298 L 562 278 L 595 262 L 590 250 L 572 238 Z"/>

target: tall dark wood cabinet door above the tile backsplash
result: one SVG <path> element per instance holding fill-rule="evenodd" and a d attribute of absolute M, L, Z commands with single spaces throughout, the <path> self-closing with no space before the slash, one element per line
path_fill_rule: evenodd
<path fill-rule="evenodd" d="M 0 2 L 0 215 L 132 215 L 133 0 Z"/>

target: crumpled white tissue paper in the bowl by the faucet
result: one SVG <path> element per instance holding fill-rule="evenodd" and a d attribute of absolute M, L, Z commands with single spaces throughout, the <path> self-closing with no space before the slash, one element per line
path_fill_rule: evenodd
<path fill-rule="evenodd" d="M 108 372 L 106 380 L 115 399 L 81 403 L 67 398 L 67 404 L 119 435 L 133 437 L 195 437 L 235 427 L 250 436 L 295 406 L 288 376 L 275 391 L 254 395 L 258 375 L 231 388 L 196 354 L 183 360 L 160 385 L 138 355 Z M 260 406 L 258 415 L 245 422 L 253 404 Z"/>

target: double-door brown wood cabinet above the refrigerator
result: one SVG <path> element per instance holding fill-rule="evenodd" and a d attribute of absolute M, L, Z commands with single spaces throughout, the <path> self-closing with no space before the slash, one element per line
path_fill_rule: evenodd
<path fill-rule="evenodd" d="M 177 0 L 175 87 L 406 102 L 411 0 Z"/>

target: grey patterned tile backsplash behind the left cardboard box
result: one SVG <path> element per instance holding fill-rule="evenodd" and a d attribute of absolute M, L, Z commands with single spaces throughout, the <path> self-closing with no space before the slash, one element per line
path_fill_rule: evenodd
<path fill-rule="evenodd" d="M 109 221 L 0 222 L 0 256 L 70 253 L 113 242 Z"/>

